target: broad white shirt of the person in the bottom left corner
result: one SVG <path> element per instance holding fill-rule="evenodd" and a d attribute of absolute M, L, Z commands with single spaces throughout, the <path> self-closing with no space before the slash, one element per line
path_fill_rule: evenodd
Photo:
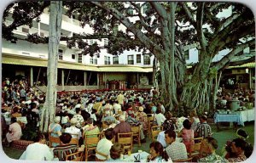
<path fill-rule="evenodd" d="M 53 158 L 53 152 L 46 144 L 32 143 L 26 147 L 19 160 L 53 160 Z"/>

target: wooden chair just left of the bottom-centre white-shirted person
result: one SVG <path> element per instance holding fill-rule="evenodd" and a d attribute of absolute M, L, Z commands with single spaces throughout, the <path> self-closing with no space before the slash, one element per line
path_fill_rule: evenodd
<path fill-rule="evenodd" d="M 100 141 L 100 133 L 96 134 L 85 134 L 84 136 L 84 156 L 85 156 L 85 161 L 88 160 L 88 157 L 90 157 L 89 152 L 92 150 L 96 150 L 97 143 Z"/>

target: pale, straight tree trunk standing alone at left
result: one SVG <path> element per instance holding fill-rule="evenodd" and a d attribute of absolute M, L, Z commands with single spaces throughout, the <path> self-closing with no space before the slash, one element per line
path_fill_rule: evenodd
<path fill-rule="evenodd" d="M 40 130 L 48 131 L 49 123 L 55 117 L 58 49 L 61 38 L 62 2 L 51 1 L 49 14 L 49 48 L 47 67 L 47 92 Z"/>

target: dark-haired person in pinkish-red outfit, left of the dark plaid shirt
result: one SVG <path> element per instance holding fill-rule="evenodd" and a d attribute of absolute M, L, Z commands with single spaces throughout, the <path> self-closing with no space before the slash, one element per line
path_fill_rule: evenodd
<path fill-rule="evenodd" d="M 194 145 L 194 130 L 191 128 L 191 122 L 186 119 L 183 121 L 183 129 L 177 134 L 177 137 L 183 138 L 187 152 L 190 153 L 192 145 Z"/>

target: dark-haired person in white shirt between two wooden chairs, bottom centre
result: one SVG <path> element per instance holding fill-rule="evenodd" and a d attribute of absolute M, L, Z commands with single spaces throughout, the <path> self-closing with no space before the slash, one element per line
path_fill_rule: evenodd
<path fill-rule="evenodd" d="M 108 128 L 105 131 L 105 138 L 102 138 L 99 143 L 97 143 L 96 150 L 102 154 L 108 155 L 108 158 L 110 158 L 110 149 L 113 145 L 112 139 L 113 139 L 114 133 L 113 128 Z M 102 155 L 96 154 L 96 158 L 98 160 L 106 160 L 106 158 Z"/>

